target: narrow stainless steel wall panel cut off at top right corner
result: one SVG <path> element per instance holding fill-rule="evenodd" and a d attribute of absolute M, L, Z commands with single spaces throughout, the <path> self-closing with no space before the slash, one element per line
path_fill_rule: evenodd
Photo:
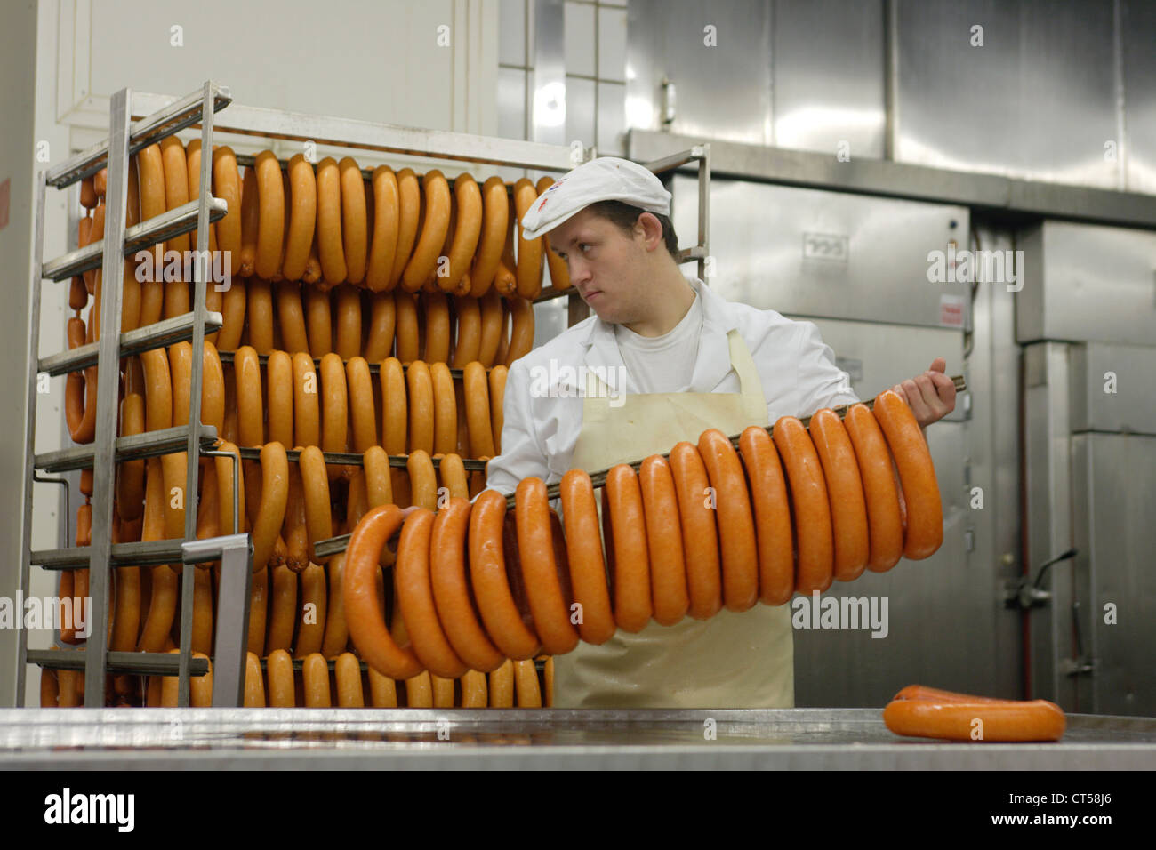
<path fill-rule="evenodd" d="M 1156 194 L 1156 5 L 1118 0 L 1120 64 L 1124 76 L 1127 187 Z"/>

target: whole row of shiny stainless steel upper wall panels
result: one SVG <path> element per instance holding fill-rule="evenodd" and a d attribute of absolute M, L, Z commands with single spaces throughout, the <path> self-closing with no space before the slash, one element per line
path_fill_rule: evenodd
<path fill-rule="evenodd" d="M 632 127 L 662 128 L 666 76 L 676 133 L 1156 193 L 1144 0 L 630 0 L 629 22 Z"/>

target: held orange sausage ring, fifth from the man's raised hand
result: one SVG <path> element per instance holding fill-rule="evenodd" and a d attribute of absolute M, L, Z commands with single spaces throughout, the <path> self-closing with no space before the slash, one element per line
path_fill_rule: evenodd
<path fill-rule="evenodd" d="M 771 435 L 758 426 L 743 430 L 739 452 L 747 470 L 755 511 L 758 599 L 765 605 L 783 605 L 794 593 L 794 541 L 779 453 Z"/>

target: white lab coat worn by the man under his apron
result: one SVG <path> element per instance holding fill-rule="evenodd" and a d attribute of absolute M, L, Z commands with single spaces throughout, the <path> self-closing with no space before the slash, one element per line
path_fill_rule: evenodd
<path fill-rule="evenodd" d="M 726 301 L 697 279 L 688 282 L 703 300 L 691 392 L 739 392 L 727 346 L 727 332 L 738 327 L 762 379 L 772 424 L 779 416 L 809 416 L 823 407 L 860 400 L 813 321 Z M 534 475 L 550 485 L 570 470 L 581 430 L 580 367 L 610 385 L 612 404 L 621 402 L 621 393 L 637 392 L 618 353 L 614 325 L 598 316 L 534 348 L 514 361 L 506 376 L 502 453 L 487 466 L 487 488 L 509 494 L 524 478 Z"/>

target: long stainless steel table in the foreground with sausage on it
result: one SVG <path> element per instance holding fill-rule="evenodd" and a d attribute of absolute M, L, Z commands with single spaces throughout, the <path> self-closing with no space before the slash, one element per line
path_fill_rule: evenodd
<path fill-rule="evenodd" d="M 1154 769 L 1156 718 L 1055 744 L 892 734 L 880 709 L 2 709 L 8 769 Z"/>

